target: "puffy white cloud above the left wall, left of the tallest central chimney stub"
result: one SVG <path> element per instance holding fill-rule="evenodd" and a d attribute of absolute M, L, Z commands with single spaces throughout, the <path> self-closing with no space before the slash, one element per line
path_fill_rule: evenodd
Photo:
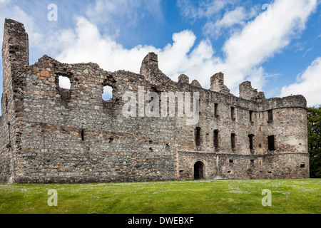
<path fill-rule="evenodd" d="M 106 71 L 127 70 L 138 72 L 141 61 L 149 51 L 156 51 L 152 46 L 136 46 L 130 50 L 112 38 L 101 36 L 97 26 L 87 19 L 78 17 L 75 30 L 63 31 L 56 41 L 65 46 L 56 58 L 66 63 L 95 62 Z M 69 40 L 69 38 L 73 38 Z M 65 43 L 65 44 L 63 44 Z M 67 43 L 67 44 L 66 44 Z M 51 43 L 55 46 L 54 43 Z M 147 52 L 147 53 L 146 53 Z"/>

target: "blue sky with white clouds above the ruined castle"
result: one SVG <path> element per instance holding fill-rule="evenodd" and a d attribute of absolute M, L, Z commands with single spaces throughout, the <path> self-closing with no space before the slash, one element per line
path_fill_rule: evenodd
<path fill-rule="evenodd" d="M 249 80 L 267 98 L 302 94 L 308 105 L 319 105 L 320 3 L 0 0 L 0 37 L 4 19 L 14 19 L 29 33 L 30 64 L 46 54 L 64 63 L 96 62 L 106 71 L 139 73 L 143 57 L 153 51 L 173 81 L 185 73 L 210 88 L 210 76 L 222 71 L 235 95 Z M 57 21 L 48 19 L 49 4 L 57 6 Z"/>

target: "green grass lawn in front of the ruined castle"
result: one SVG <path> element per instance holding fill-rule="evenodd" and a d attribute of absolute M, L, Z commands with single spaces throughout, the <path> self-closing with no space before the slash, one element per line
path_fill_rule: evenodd
<path fill-rule="evenodd" d="M 272 206 L 262 205 L 263 190 Z M 49 207 L 48 190 L 58 192 Z M 0 185 L 0 214 L 321 213 L 321 180 L 198 180 Z"/>

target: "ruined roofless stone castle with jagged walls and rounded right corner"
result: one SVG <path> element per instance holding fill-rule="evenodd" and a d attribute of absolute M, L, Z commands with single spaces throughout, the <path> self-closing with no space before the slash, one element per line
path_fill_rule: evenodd
<path fill-rule="evenodd" d="M 230 94 L 223 73 L 210 90 L 171 81 L 155 53 L 140 74 L 43 56 L 29 66 L 23 24 L 4 26 L 0 118 L 1 182 L 307 178 L 307 110 L 302 95 L 265 99 L 250 82 Z M 59 88 L 59 76 L 70 89 Z M 103 87 L 113 98 L 102 99 Z M 123 116 L 126 91 L 198 92 L 200 119 Z M 193 105 L 193 104 L 192 104 Z"/>

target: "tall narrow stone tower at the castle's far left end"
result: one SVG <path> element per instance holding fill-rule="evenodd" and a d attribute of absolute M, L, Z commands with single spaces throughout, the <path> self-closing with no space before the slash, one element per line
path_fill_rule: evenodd
<path fill-rule="evenodd" d="M 16 130 L 17 106 L 19 97 L 14 94 L 18 88 L 19 73 L 29 65 L 28 34 L 24 25 L 10 19 L 4 22 L 4 41 L 2 46 L 3 93 L 0 117 L 0 181 L 11 182 L 16 166 L 15 152 L 18 147 L 19 133 Z M 15 89 L 16 90 L 16 89 Z"/>

